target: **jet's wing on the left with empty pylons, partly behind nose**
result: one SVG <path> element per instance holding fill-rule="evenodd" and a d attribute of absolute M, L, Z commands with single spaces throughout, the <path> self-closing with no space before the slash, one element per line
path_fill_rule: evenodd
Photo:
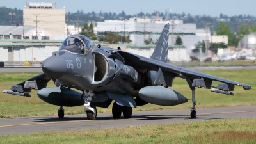
<path fill-rule="evenodd" d="M 31 92 L 32 89 L 41 90 L 42 88 L 45 88 L 51 79 L 52 78 L 46 76 L 44 73 L 38 74 L 26 81 L 13 85 L 10 90 L 4 90 L 4 93 L 30 97 L 28 93 Z"/>

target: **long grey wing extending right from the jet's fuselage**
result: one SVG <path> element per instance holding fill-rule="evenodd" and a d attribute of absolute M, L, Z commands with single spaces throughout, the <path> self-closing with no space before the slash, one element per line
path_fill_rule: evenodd
<path fill-rule="evenodd" d="M 196 72 L 194 70 L 189 70 L 187 68 L 177 67 L 175 65 L 171 65 L 169 63 L 164 63 L 162 61 L 152 60 L 150 58 L 145 58 L 143 56 L 138 56 L 136 54 L 131 54 L 125 51 L 118 51 L 120 55 L 124 58 L 125 64 L 131 65 L 132 67 L 137 67 L 140 69 L 147 69 L 147 70 L 161 70 L 163 72 L 167 72 L 170 77 L 181 77 L 184 79 L 204 79 L 205 84 L 208 85 L 212 84 L 212 81 L 220 81 L 222 83 L 228 84 L 229 90 L 234 90 L 234 86 L 243 86 L 244 90 L 249 90 L 252 86 L 244 83 L 239 83 L 236 81 L 231 81 L 229 79 L 223 79 L 221 77 L 211 76 L 209 74 L 204 74 L 201 72 Z M 206 86 L 207 88 L 211 88 L 211 85 Z"/>

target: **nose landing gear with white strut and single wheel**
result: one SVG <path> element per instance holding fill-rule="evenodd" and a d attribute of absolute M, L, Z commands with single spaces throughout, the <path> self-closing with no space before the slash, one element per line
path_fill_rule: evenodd
<path fill-rule="evenodd" d="M 87 114 L 88 120 L 96 120 L 97 117 L 97 109 L 95 106 L 91 106 L 92 97 L 94 97 L 94 93 L 92 90 L 84 90 L 84 111 Z"/>

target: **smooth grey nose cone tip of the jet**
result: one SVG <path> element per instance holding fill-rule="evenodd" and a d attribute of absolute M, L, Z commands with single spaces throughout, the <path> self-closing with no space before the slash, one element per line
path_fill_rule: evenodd
<path fill-rule="evenodd" d="M 54 79 L 60 79 L 67 70 L 67 63 L 61 56 L 51 56 L 42 63 L 44 74 Z"/>

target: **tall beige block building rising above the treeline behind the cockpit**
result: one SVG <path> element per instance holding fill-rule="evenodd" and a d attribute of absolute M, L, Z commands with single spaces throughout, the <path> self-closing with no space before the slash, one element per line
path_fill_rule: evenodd
<path fill-rule="evenodd" d="M 54 35 L 55 40 L 65 39 L 65 9 L 57 9 L 56 3 L 27 2 L 23 9 L 24 26 L 35 26 Z M 67 35 L 66 35 L 67 36 Z"/>

